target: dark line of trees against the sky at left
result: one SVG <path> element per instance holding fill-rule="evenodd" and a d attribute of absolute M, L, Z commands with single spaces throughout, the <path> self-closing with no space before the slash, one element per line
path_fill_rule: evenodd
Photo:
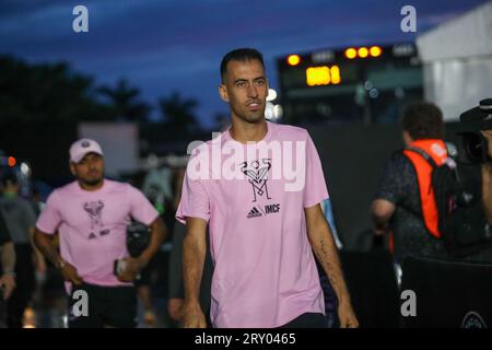
<path fill-rule="evenodd" d="M 152 106 L 140 95 L 140 90 L 125 79 L 97 86 L 93 78 L 73 72 L 65 62 L 30 65 L 0 56 L 1 121 L 144 124 L 155 108 L 161 122 L 184 130 L 198 127 L 196 100 L 173 92 Z"/>

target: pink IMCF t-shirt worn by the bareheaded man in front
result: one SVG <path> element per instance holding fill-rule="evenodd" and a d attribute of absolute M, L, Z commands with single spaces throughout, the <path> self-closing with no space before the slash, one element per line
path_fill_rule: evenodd
<path fill-rule="evenodd" d="M 328 198 L 321 163 L 306 130 L 267 125 L 256 151 L 227 130 L 187 166 L 176 219 L 209 221 L 214 327 L 279 327 L 325 313 L 304 214 Z"/>

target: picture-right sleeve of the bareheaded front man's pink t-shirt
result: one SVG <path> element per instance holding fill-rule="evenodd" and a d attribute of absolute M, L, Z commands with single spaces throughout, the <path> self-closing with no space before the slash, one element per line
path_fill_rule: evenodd
<path fill-rule="evenodd" d="M 304 208 L 309 208 L 328 199 L 328 189 L 325 183 L 325 175 L 323 173 L 321 161 L 319 160 L 316 147 L 307 135 L 306 142 L 306 178 L 304 186 Z"/>

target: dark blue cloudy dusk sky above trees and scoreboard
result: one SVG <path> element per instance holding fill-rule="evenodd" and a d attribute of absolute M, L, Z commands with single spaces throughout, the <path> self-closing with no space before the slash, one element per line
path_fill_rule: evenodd
<path fill-rule="evenodd" d="M 483 0 L 0 0 L 0 55 L 67 61 L 96 84 L 126 78 L 153 106 L 178 91 L 199 102 L 200 122 L 227 113 L 218 96 L 219 63 L 237 47 L 263 52 L 272 88 L 278 57 L 349 45 L 414 40 L 400 9 L 417 9 L 417 35 Z M 89 33 L 74 33 L 72 10 L 89 9 Z M 155 114 L 155 113 L 154 113 Z"/>

